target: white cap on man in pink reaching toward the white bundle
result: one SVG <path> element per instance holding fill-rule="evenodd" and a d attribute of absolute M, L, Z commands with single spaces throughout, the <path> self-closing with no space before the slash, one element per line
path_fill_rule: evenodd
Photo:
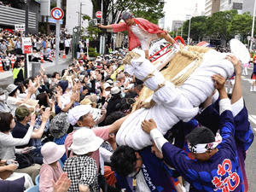
<path fill-rule="evenodd" d="M 85 114 L 91 113 L 91 106 L 90 105 L 79 105 L 69 110 L 67 114 L 68 122 L 71 125 L 75 125 L 79 118 Z"/>

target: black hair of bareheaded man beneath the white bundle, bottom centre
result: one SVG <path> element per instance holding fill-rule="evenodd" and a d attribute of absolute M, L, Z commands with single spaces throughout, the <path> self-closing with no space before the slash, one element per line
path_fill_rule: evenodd
<path fill-rule="evenodd" d="M 135 150 L 128 146 L 120 146 L 110 157 L 112 170 L 126 177 L 135 171 L 137 157 Z"/>

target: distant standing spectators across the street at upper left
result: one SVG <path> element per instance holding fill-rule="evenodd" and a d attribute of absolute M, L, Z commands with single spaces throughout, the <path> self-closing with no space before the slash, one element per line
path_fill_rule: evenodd
<path fill-rule="evenodd" d="M 14 63 L 18 59 L 24 58 L 22 54 L 20 32 L 0 31 L 0 60 L 4 71 L 14 68 Z M 32 54 L 29 55 L 29 61 L 52 62 L 55 57 L 55 36 L 54 35 L 28 35 L 32 40 Z M 64 53 L 70 53 L 72 38 L 69 35 L 61 37 L 60 56 Z"/>

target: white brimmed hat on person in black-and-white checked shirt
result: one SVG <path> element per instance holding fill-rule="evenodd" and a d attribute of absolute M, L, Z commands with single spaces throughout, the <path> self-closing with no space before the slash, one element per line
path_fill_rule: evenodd
<path fill-rule="evenodd" d="M 101 137 L 96 137 L 92 130 L 84 128 L 74 132 L 70 149 L 75 154 L 88 154 L 100 148 L 102 143 Z"/>

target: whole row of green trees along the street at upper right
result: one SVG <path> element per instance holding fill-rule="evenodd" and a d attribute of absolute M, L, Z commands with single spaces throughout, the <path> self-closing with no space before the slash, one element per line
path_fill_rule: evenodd
<path fill-rule="evenodd" d="M 249 13 L 238 15 L 236 10 L 217 12 L 210 17 L 192 17 L 190 38 L 196 41 L 201 41 L 201 38 L 224 39 L 228 42 L 230 38 L 239 34 L 241 40 L 245 41 L 252 30 L 252 23 L 252 15 L 249 15 Z M 183 22 L 184 38 L 187 38 L 188 32 L 189 20 L 186 20 Z"/>

